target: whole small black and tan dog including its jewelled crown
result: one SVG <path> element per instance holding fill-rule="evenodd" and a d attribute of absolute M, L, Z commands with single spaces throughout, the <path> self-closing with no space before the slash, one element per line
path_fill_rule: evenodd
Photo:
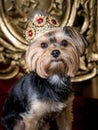
<path fill-rule="evenodd" d="M 71 130 L 70 78 L 79 68 L 87 42 L 73 27 L 59 27 L 53 16 L 36 14 L 26 25 L 30 73 L 12 87 L 6 99 L 4 130 Z"/>

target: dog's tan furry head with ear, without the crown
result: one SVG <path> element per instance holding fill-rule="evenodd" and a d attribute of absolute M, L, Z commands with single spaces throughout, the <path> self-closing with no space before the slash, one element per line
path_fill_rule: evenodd
<path fill-rule="evenodd" d="M 73 77 L 87 42 L 72 27 L 57 28 L 36 38 L 26 53 L 30 71 L 43 78 L 53 75 Z"/>

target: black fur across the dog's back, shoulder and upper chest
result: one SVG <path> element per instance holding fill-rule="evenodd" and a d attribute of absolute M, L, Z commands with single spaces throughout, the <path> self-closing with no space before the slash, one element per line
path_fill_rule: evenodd
<path fill-rule="evenodd" d="M 29 111 L 30 99 L 64 102 L 72 92 L 70 78 L 62 78 L 63 84 L 51 84 L 36 73 L 22 77 L 12 87 L 4 105 L 2 126 L 4 130 L 13 130 L 15 120 L 21 120 L 20 113 Z"/>

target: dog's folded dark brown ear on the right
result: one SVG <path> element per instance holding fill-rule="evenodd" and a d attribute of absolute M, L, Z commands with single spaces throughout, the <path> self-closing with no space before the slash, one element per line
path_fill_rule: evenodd
<path fill-rule="evenodd" d="M 80 34 L 79 31 L 74 27 L 65 26 L 63 28 L 63 30 L 66 33 L 66 35 L 71 37 L 71 39 L 73 40 L 76 48 L 80 52 L 80 55 L 82 56 L 85 49 L 88 46 L 88 43 L 87 43 L 86 39 L 84 38 L 84 36 L 82 34 Z"/>

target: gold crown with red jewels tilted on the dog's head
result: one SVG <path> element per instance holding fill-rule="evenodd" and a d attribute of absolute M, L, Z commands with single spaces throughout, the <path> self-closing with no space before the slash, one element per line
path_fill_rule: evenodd
<path fill-rule="evenodd" d="M 58 20 L 52 15 L 35 14 L 27 21 L 24 36 L 31 43 L 37 36 L 49 32 L 59 26 Z"/>

